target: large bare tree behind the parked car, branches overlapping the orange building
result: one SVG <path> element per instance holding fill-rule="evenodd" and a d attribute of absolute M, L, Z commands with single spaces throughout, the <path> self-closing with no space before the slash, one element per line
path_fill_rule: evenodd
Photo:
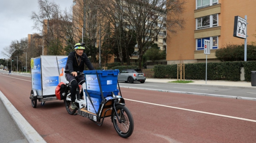
<path fill-rule="evenodd" d="M 167 28 L 172 33 L 183 29 L 185 0 L 124 0 L 125 19 L 136 31 L 139 48 L 139 68 L 142 57 L 156 40 L 158 33 Z M 166 19 L 167 15 L 167 19 Z"/>

